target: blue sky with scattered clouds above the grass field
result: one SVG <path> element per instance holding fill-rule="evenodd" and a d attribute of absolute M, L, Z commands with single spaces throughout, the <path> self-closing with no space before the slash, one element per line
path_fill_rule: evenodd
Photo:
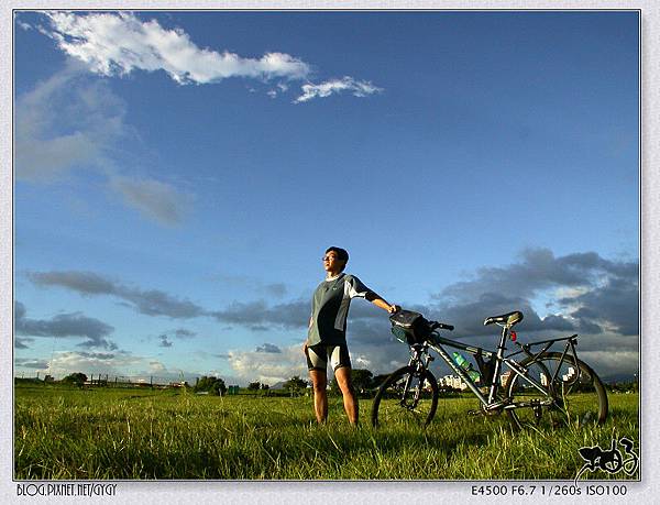
<path fill-rule="evenodd" d="M 637 372 L 635 12 L 18 12 L 14 370 L 275 383 L 328 245 Z M 406 361 L 355 300 L 356 367 Z"/>

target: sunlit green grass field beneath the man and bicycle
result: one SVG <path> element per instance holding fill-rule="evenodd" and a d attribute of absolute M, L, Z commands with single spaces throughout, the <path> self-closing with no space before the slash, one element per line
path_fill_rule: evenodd
<path fill-rule="evenodd" d="M 334 397 L 328 424 L 317 426 L 309 397 L 19 385 L 14 470 L 19 480 L 572 480 L 581 447 L 606 450 L 625 436 L 641 453 L 638 396 L 608 397 L 607 422 L 586 431 L 514 432 L 506 416 L 468 416 L 476 407 L 468 397 L 441 398 L 426 430 L 375 430 L 370 399 L 352 428 Z"/>

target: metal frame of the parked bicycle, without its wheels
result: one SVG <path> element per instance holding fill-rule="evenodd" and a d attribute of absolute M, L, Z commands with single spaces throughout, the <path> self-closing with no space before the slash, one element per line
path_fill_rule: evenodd
<path fill-rule="evenodd" d="M 551 380 L 549 381 L 549 386 L 546 387 L 542 384 L 540 384 L 539 382 L 537 382 L 535 378 L 529 377 L 527 375 L 527 370 L 524 369 L 522 366 L 520 366 L 520 364 L 518 364 L 518 362 L 513 360 L 512 356 L 515 356 L 517 354 L 520 354 L 521 352 L 525 352 L 528 356 L 530 356 L 532 359 L 539 358 L 548 349 L 550 349 L 550 347 L 552 347 L 556 342 L 565 341 L 566 344 L 564 347 L 563 353 L 561 355 L 560 362 L 563 362 L 564 358 L 566 358 L 566 355 L 570 352 L 569 359 L 571 359 L 571 356 L 572 356 L 572 360 L 576 364 L 578 355 L 575 352 L 575 344 L 576 344 L 578 336 L 573 334 L 571 337 L 564 337 L 564 338 L 559 338 L 559 339 L 539 340 L 539 341 L 530 342 L 530 343 L 526 343 L 526 344 L 520 344 L 520 343 L 516 342 L 520 347 L 520 350 L 505 356 L 504 355 L 504 353 L 506 351 L 505 343 L 506 343 L 506 339 L 509 337 L 509 332 L 510 332 L 510 329 L 508 327 L 506 327 L 506 326 L 503 327 L 502 336 L 499 339 L 499 344 L 497 345 L 496 351 L 488 351 L 484 348 L 468 345 L 468 344 L 465 344 L 463 342 L 459 342 L 457 340 L 451 340 L 451 339 L 447 339 L 444 337 L 440 337 L 440 334 L 438 334 L 437 332 L 433 332 L 433 337 L 435 337 L 433 341 L 427 342 L 427 343 L 422 344 L 420 349 L 415 350 L 415 355 L 410 360 L 410 362 L 411 363 L 414 361 L 420 362 L 421 354 L 424 353 L 425 348 L 433 349 L 442 358 L 442 360 L 450 366 L 450 369 L 454 373 L 457 373 L 459 375 L 459 377 L 461 377 L 461 380 L 465 383 L 468 388 L 470 388 L 470 391 L 479 398 L 480 403 L 482 404 L 482 406 L 484 407 L 485 410 L 496 410 L 499 408 L 503 408 L 506 410 L 506 409 L 510 409 L 510 408 L 518 408 L 518 407 L 527 406 L 524 403 L 507 403 L 506 398 L 504 400 L 496 402 L 497 392 L 501 387 L 499 377 L 502 374 L 503 365 L 506 365 L 512 371 L 512 373 L 517 374 L 522 381 L 525 381 L 529 385 L 536 387 L 540 393 L 546 395 L 546 397 L 548 398 L 548 404 L 549 405 L 552 404 L 553 403 L 552 384 L 554 383 L 554 380 L 557 378 L 557 373 L 559 372 L 559 369 L 554 371 L 554 376 L 551 377 Z M 544 344 L 540 351 L 534 352 L 534 353 L 530 351 L 530 348 L 532 345 L 540 345 L 540 344 Z M 487 396 L 484 396 L 484 394 L 480 391 L 480 388 L 476 386 L 474 381 L 472 381 L 472 378 L 470 377 L 468 372 L 454 362 L 454 360 L 449 355 L 449 353 L 446 351 L 446 349 L 442 345 L 447 345 L 452 349 L 459 349 L 459 350 L 468 352 L 472 355 L 475 355 L 475 356 L 479 355 L 479 356 L 485 358 L 487 360 L 492 360 L 493 358 L 495 358 L 495 369 L 493 370 L 491 383 L 486 384 L 486 386 L 488 387 Z M 428 367 L 428 364 L 430 361 L 432 361 L 432 356 L 427 356 L 427 361 L 426 361 L 426 363 L 424 363 L 422 366 Z M 578 376 L 574 381 L 578 381 L 578 380 L 580 380 L 581 372 L 580 372 L 579 366 L 575 366 L 575 369 L 578 370 Z M 574 382 L 574 381 L 572 381 L 572 382 Z"/>

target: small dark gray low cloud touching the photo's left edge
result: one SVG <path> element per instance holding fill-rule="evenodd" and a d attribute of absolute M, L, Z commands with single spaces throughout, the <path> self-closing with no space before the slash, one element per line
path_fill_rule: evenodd
<path fill-rule="evenodd" d="M 14 330 L 16 334 L 26 337 L 86 338 L 78 344 L 81 347 L 116 348 L 106 339 L 114 331 L 110 325 L 80 312 L 59 314 L 51 319 L 31 319 L 20 301 L 14 303 Z"/>

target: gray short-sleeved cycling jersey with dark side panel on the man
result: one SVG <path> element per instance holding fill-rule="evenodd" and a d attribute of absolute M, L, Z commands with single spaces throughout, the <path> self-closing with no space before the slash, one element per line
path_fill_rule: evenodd
<path fill-rule="evenodd" d="M 369 294 L 377 296 L 358 277 L 350 274 L 342 273 L 336 278 L 319 284 L 311 300 L 311 326 L 307 334 L 307 344 L 344 343 L 351 299 L 364 298 Z"/>

